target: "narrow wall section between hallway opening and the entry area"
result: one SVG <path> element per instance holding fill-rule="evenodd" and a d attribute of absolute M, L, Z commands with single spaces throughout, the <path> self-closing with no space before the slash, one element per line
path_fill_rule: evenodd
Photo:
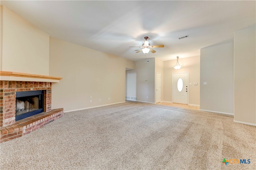
<path fill-rule="evenodd" d="M 137 100 L 155 103 L 155 59 L 136 61 L 135 70 L 137 75 Z"/>

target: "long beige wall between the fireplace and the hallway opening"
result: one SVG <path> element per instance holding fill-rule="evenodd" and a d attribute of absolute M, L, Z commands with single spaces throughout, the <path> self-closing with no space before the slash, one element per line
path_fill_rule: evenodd
<path fill-rule="evenodd" d="M 126 67 L 133 64 L 50 38 L 50 74 L 63 77 L 60 83 L 52 85 L 52 109 L 64 107 L 64 111 L 70 111 L 125 102 Z"/>

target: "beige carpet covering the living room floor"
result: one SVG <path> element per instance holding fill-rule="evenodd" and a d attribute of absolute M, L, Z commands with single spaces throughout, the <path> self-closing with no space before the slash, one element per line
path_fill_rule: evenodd
<path fill-rule="evenodd" d="M 126 102 L 65 113 L 0 149 L 1 170 L 249 170 L 256 127 L 230 115 Z"/>

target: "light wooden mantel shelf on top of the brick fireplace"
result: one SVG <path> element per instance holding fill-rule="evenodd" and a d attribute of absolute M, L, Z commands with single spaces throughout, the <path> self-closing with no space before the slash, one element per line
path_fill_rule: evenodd
<path fill-rule="evenodd" d="M 8 81 L 34 81 L 34 82 L 60 82 L 62 77 L 27 74 L 21 72 L 0 71 L 0 80 Z"/>

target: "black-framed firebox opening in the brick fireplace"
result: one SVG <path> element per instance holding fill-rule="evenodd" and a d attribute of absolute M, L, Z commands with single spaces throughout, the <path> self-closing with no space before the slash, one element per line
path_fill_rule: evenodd
<path fill-rule="evenodd" d="M 16 92 L 15 121 L 44 111 L 44 90 Z"/>

